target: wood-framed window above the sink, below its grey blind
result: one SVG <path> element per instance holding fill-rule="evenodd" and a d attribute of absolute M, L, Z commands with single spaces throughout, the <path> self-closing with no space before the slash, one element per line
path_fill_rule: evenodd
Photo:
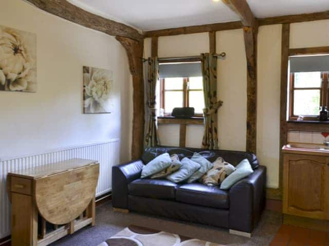
<path fill-rule="evenodd" d="M 317 120 L 319 107 L 328 107 L 328 72 L 290 73 L 289 120 Z"/>

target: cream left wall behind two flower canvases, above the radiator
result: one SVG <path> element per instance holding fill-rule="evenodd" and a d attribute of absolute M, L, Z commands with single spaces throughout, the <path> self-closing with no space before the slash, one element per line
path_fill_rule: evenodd
<path fill-rule="evenodd" d="M 131 76 L 117 40 L 21 0 L 0 2 L 0 24 L 37 37 L 38 91 L 0 92 L 0 158 L 120 138 L 129 159 Z M 111 114 L 82 113 L 82 66 L 113 70 Z"/>

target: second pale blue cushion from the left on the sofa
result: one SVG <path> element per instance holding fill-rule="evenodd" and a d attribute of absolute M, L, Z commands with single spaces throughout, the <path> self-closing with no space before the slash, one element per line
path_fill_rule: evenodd
<path fill-rule="evenodd" d="M 201 167 L 199 163 L 196 163 L 187 157 L 183 158 L 180 162 L 182 164 L 181 168 L 177 172 L 174 172 L 166 177 L 174 183 L 187 180 Z"/>

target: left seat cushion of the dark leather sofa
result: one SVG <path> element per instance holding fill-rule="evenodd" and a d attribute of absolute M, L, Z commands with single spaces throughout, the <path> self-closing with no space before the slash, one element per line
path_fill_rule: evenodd
<path fill-rule="evenodd" d="M 177 184 L 165 179 L 136 179 L 128 185 L 129 194 L 158 199 L 175 199 Z"/>

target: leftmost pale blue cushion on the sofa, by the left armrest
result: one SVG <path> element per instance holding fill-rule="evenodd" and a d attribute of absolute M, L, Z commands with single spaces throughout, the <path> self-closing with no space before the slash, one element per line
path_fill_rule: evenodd
<path fill-rule="evenodd" d="M 171 165 L 171 158 L 168 153 L 163 153 L 151 160 L 142 169 L 141 178 L 147 178 L 153 174 L 165 170 Z"/>

